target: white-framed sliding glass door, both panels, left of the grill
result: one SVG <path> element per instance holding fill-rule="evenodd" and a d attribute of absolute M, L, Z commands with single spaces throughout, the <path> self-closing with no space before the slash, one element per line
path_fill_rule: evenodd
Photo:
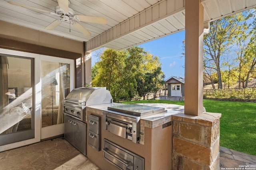
<path fill-rule="evenodd" d="M 0 48 L 0 152 L 64 134 L 74 60 Z"/>

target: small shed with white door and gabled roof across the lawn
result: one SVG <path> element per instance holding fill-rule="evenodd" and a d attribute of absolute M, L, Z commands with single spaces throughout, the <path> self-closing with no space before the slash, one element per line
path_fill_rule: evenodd
<path fill-rule="evenodd" d="M 168 96 L 184 97 L 185 79 L 183 77 L 171 76 L 166 80 Z"/>

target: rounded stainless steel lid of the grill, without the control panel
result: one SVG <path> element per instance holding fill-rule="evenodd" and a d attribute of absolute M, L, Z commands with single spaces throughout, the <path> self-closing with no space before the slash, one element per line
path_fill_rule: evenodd
<path fill-rule="evenodd" d="M 66 97 L 66 101 L 91 106 L 112 103 L 112 96 L 106 87 L 81 87 L 73 89 Z"/>

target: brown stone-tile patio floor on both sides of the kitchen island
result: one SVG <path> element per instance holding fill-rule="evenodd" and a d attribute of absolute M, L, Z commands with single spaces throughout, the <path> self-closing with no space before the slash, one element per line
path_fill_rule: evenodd
<path fill-rule="evenodd" d="M 220 147 L 220 169 L 243 165 L 256 165 L 256 156 Z M 62 137 L 1 152 L 0 170 L 14 169 L 100 170 Z"/>

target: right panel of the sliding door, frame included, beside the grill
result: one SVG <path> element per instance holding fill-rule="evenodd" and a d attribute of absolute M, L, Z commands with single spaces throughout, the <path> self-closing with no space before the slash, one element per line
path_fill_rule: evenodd
<path fill-rule="evenodd" d="M 61 102 L 73 89 L 74 80 L 70 79 L 70 75 L 74 75 L 73 60 L 41 57 L 41 139 L 64 133 Z"/>

